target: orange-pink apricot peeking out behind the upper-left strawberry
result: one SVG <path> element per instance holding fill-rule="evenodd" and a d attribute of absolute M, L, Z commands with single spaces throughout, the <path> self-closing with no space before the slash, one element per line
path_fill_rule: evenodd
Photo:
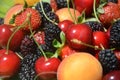
<path fill-rule="evenodd" d="M 14 5 L 13 7 L 11 7 L 4 18 L 4 24 L 9 24 L 10 20 L 12 19 L 13 15 L 17 14 L 18 12 L 20 12 L 23 9 L 23 5 L 19 4 L 19 5 Z"/>

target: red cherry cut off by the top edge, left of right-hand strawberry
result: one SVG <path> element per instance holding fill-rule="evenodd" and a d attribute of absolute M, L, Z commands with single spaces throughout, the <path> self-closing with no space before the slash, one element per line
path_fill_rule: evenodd
<path fill-rule="evenodd" d="M 93 12 L 93 2 L 94 0 L 74 0 L 76 9 L 80 13 L 85 10 L 86 16 L 91 16 L 91 13 Z M 98 3 L 99 0 L 97 0 L 97 4 Z"/>

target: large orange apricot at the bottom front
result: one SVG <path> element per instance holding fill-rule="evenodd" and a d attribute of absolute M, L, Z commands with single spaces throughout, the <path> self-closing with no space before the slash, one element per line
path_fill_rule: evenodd
<path fill-rule="evenodd" d="M 57 71 L 58 80 L 102 80 L 102 66 L 91 54 L 76 52 L 63 59 Z"/>

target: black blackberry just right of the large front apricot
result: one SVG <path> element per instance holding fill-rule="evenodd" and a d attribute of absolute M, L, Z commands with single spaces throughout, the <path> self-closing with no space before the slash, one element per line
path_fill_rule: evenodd
<path fill-rule="evenodd" d="M 104 74 L 119 69 L 119 60 L 113 50 L 105 49 L 99 52 L 99 61 L 103 67 Z"/>

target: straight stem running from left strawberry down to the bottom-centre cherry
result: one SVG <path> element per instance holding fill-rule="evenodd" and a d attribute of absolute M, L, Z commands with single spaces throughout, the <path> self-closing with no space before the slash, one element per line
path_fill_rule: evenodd
<path fill-rule="evenodd" d="M 28 15 L 31 15 L 31 14 L 28 14 Z M 31 22 L 30 22 L 30 17 L 29 18 L 29 21 L 28 21 L 28 24 L 29 24 L 29 27 L 30 27 L 30 33 L 31 33 L 31 37 L 33 38 L 33 40 L 35 41 L 36 45 L 38 46 L 39 50 L 42 52 L 45 60 L 48 60 L 47 56 L 45 55 L 45 52 L 43 51 L 42 47 L 38 44 L 38 42 L 35 40 L 34 38 L 34 35 L 33 35 L 33 31 L 32 31 L 32 26 L 31 26 Z"/>

